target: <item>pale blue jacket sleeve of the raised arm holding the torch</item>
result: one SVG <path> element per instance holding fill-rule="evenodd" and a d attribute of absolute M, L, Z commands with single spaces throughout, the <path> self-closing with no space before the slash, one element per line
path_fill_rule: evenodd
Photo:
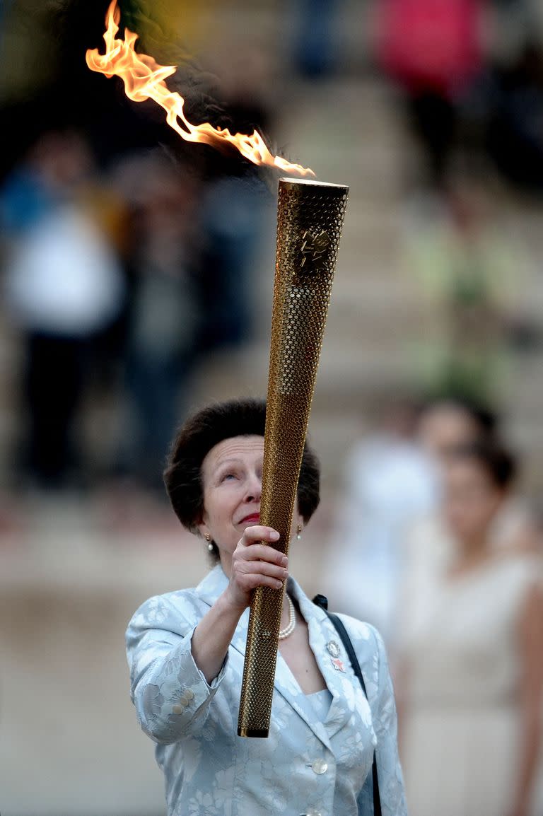
<path fill-rule="evenodd" d="M 190 599 L 179 610 L 168 596 L 156 596 L 139 607 L 126 630 L 130 697 L 139 725 L 161 745 L 201 729 L 226 671 L 228 658 L 209 685 L 196 666 L 195 613 Z"/>

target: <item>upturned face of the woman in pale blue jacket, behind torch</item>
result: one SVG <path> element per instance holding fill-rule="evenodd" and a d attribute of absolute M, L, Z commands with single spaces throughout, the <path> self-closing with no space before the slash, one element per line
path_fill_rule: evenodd
<path fill-rule="evenodd" d="M 260 522 L 263 458 L 264 437 L 231 437 L 211 448 L 202 463 L 204 513 L 198 528 L 217 544 L 227 574 L 245 528 Z M 293 530 L 298 523 L 295 508 Z"/>

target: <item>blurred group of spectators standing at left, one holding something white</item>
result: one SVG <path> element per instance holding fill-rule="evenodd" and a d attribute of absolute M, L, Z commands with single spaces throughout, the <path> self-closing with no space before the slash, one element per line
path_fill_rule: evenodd
<path fill-rule="evenodd" d="M 4 304 L 24 347 L 21 477 L 85 486 L 83 397 L 115 388 L 126 424 L 105 467 L 160 486 L 196 359 L 250 336 L 240 281 L 266 207 L 258 180 L 202 181 L 152 151 L 99 174 L 76 131 L 40 135 L 0 197 Z"/>

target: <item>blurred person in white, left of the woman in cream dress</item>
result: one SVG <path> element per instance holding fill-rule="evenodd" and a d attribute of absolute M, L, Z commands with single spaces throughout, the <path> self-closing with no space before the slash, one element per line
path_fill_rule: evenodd
<path fill-rule="evenodd" d="M 391 648 L 401 542 L 413 520 L 435 507 L 438 480 L 417 445 L 417 407 L 391 401 L 381 415 L 347 459 L 327 578 L 333 605 L 371 621 Z"/>

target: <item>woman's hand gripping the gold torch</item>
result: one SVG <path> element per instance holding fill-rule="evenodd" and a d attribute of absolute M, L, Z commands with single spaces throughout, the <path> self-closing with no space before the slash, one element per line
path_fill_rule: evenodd
<path fill-rule="evenodd" d="M 282 588 L 289 575 L 289 559 L 282 552 L 261 543 L 273 543 L 278 539 L 279 533 L 272 527 L 247 527 L 232 553 L 232 574 L 225 593 L 232 608 L 245 610 L 257 587 Z"/>

